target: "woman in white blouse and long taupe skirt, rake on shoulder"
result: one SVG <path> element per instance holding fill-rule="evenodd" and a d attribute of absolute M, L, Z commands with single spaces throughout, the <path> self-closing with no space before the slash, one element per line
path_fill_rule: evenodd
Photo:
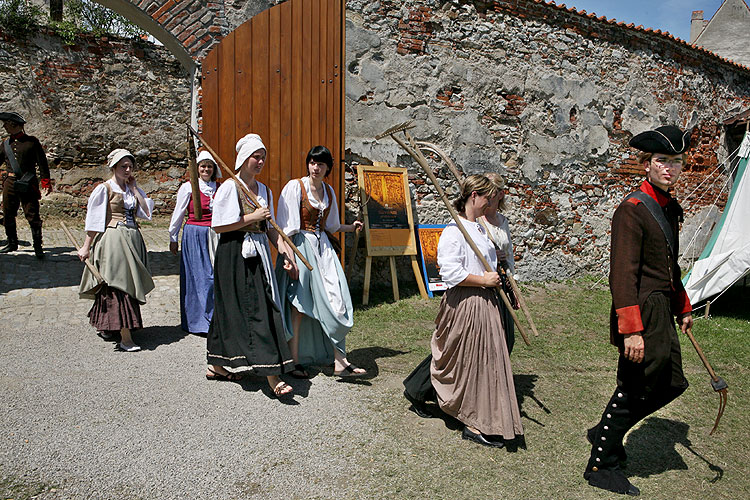
<path fill-rule="evenodd" d="M 477 218 L 496 190 L 484 175 L 471 175 L 454 203 L 460 224 L 493 269 L 495 248 Z M 465 424 L 463 439 L 502 447 L 506 440 L 523 435 L 523 427 L 493 290 L 500 276 L 485 271 L 455 222 L 440 236 L 438 266 L 448 286 L 431 341 L 430 373 L 438 404 Z"/>

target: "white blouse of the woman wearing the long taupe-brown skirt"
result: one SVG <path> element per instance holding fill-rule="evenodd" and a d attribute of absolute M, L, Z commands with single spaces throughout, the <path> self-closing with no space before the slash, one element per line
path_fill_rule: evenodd
<path fill-rule="evenodd" d="M 495 254 L 495 246 L 487 237 L 485 229 L 478 222 L 471 222 L 464 218 L 461 218 L 460 221 L 494 270 L 497 267 L 497 254 Z M 440 268 L 440 277 L 448 288 L 457 286 L 470 274 L 484 275 L 485 269 L 482 262 L 474 254 L 455 222 L 448 224 L 440 235 L 438 267 Z"/>

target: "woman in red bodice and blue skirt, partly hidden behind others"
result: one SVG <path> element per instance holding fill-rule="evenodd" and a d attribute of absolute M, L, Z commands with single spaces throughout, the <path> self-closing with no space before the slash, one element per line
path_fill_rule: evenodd
<path fill-rule="evenodd" d="M 201 220 L 196 219 L 192 186 L 186 182 L 177 191 L 169 223 L 169 251 L 177 255 L 177 237 L 187 214 L 180 258 L 180 323 L 186 332 L 206 335 L 214 313 L 214 252 L 218 244 L 211 229 L 211 211 L 216 178 L 221 173 L 208 151 L 198 154 L 197 163 Z"/>

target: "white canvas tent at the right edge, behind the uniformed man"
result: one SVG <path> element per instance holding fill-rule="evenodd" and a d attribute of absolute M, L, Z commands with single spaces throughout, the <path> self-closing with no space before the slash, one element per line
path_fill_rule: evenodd
<path fill-rule="evenodd" d="M 750 273 L 750 133 L 739 152 L 737 174 L 721 220 L 706 248 L 683 280 L 695 305 L 720 294 Z"/>

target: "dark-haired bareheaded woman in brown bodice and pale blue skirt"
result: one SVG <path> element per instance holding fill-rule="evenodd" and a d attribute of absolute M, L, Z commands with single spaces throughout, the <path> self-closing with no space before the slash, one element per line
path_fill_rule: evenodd
<path fill-rule="evenodd" d="M 352 300 L 344 271 L 332 245 L 336 231 L 351 232 L 362 222 L 341 224 L 333 188 L 323 182 L 333 169 L 333 156 L 325 146 L 307 153 L 307 176 L 293 179 L 279 197 L 277 221 L 313 265 L 297 264 L 299 279 L 279 271 L 282 313 L 286 317 L 289 347 L 294 358 L 292 376 L 307 378 L 305 366 L 334 363 L 334 375 L 365 375 L 346 359 L 345 337 L 352 328 Z"/>

